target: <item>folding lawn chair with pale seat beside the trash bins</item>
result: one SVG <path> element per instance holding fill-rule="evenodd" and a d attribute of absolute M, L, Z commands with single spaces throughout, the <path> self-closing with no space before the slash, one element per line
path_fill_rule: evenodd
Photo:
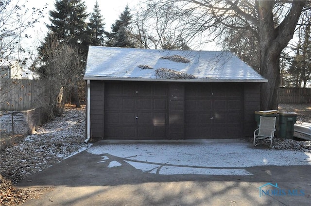
<path fill-rule="evenodd" d="M 276 117 L 260 116 L 259 128 L 254 131 L 254 146 L 255 140 L 270 140 L 270 147 L 272 147 L 272 138 L 276 131 Z"/>

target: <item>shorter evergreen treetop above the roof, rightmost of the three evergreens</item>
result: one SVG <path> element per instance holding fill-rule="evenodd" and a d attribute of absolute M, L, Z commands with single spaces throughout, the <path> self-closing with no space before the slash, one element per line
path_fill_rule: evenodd
<path fill-rule="evenodd" d="M 128 6 L 111 26 L 111 33 L 107 33 L 108 47 L 122 47 L 122 48 L 135 48 L 134 35 L 130 31 L 130 24 L 132 15 L 130 14 Z"/>

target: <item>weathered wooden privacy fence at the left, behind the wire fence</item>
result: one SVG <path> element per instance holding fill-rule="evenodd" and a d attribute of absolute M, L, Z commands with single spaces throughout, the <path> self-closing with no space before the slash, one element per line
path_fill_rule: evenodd
<path fill-rule="evenodd" d="M 0 79 L 0 109 L 24 111 L 40 106 L 44 82 L 30 79 Z"/>

